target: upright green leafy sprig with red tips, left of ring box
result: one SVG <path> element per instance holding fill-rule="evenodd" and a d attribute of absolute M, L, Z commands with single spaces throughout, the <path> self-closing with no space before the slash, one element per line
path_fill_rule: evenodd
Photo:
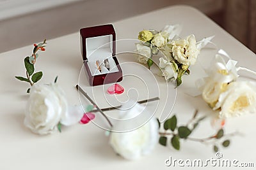
<path fill-rule="evenodd" d="M 33 53 L 31 56 L 25 57 L 24 59 L 24 65 L 26 68 L 26 78 L 22 76 L 15 76 L 20 81 L 26 81 L 28 82 L 31 86 L 33 86 L 37 81 L 39 81 L 42 76 L 43 72 L 38 71 L 35 72 L 35 63 L 36 59 L 38 58 L 38 50 L 45 51 L 45 44 L 46 44 L 46 39 L 44 39 L 43 43 L 39 43 L 38 45 L 34 44 L 33 48 Z M 29 93 L 29 90 L 27 90 L 27 93 Z"/>

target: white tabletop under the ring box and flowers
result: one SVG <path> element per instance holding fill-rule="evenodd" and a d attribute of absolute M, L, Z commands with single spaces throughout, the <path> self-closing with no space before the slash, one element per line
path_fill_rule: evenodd
<path fill-rule="evenodd" d="M 143 29 L 159 30 L 166 24 L 182 25 L 183 29 L 180 36 L 195 34 L 196 39 L 199 40 L 215 35 L 213 42 L 219 48 L 225 49 L 232 59 L 238 60 L 239 66 L 256 70 L 255 53 L 248 50 L 200 11 L 189 6 L 170 6 L 163 10 L 113 23 L 117 39 L 136 39 L 139 31 Z M 45 38 L 47 38 L 47 35 L 45 35 Z M 24 46 L 0 54 L 0 169 L 168 169 L 173 167 L 166 167 L 164 160 L 170 156 L 173 159 L 184 160 L 216 158 L 211 146 L 193 141 L 182 141 L 179 152 L 173 150 L 173 148 L 157 145 L 150 155 L 135 161 L 125 160 L 113 152 L 111 146 L 108 145 L 108 137 L 104 135 L 104 131 L 92 123 L 63 127 L 63 132 L 56 132 L 47 136 L 33 134 L 23 125 L 24 108 L 28 99 L 26 89 L 28 89 L 29 84 L 14 78 L 14 76 L 25 74 L 23 60 L 24 57 L 31 54 L 32 48 L 33 45 Z M 127 43 L 126 46 L 119 45 L 117 51 L 134 50 L 134 48 L 134 44 Z M 214 53 L 216 53 L 216 50 L 202 50 L 200 63 L 212 59 Z M 75 89 L 83 66 L 79 32 L 47 40 L 46 51 L 40 52 L 39 57 L 35 69 L 44 72 L 44 77 L 40 80 L 40 83 L 52 82 L 55 76 L 58 75 L 58 83 L 65 90 L 69 103 L 79 104 L 78 93 Z M 134 57 L 130 59 L 134 61 Z M 127 57 L 118 58 L 120 63 L 130 59 Z M 129 69 L 124 67 L 125 71 L 129 71 Z M 198 64 L 191 67 L 191 75 L 184 76 L 182 86 L 177 90 L 177 101 L 172 113 L 177 113 L 180 123 L 186 123 L 191 118 L 195 108 L 198 108 L 200 113 L 213 114 L 202 100 L 202 97 L 191 97 L 184 93 L 186 89 L 191 87 L 191 82 L 202 75 L 204 74 L 198 62 Z M 92 90 L 84 76 L 83 69 L 80 78 L 79 84 L 84 89 Z M 165 85 L 166 87 L 166 84 L 163 78 L 157 78 L 156 76 L 156 79 L 160 85 L 159 96 L 163 96 L 163 98 L 160 97 L 159 106 L 161 106 L 166 97 L 164 97 L 166 91 L 161 89 L 161 86 L 164 87 Z M 121 84 L 125 87 L 132 85 L 131 82 L 127 82 L 125 79 Z M 96 90 L 97 88 L 102 89 L 102 87 L 95 87 Z M 175 94 L 175 90 L 173 90 L 173 85 L 169 85 L 168 89 L 170 90 L 170 94 L 168 94 L 170 95 L 170 103 L 172 103 L 172 95 Z M 100 99 L 95 100 L 102 107 L 108 106 L 106 102 L 100 101 Z M 170 108 L 171 106 L 167 104 L 166 110 L 170 111 Z M 156 115 L 160 114 L 159 112 L 156 113 Z M 239 131 L 243 133 L 243 136 L 235 136 L 231 139 L 230 147 L 221 149 L 224 159 L 256 163 L 255 120 L 255 114 L 228 119 L 226 131 Z M 214 132 L 209 124 L 210 120 L 206 120 L 198 127 L 194 136 L 207 136 Z M 179 169 L 179 167 L 175 168 Z M 214 168 L 216 167 L 207 167 L 207 169 Z M 194 167 L 194 169 L 198 169 L 198 167 Z"/>

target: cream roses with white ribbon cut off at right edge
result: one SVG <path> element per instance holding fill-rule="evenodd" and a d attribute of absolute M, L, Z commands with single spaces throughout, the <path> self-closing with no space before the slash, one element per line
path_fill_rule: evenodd
<path fill-rule="evenodd" d="M 212 110 L 220 110 L 220 118 L 256 111 L 256 84 L 237 80 L 239 70 L 255 73 L 236 64 L 236 60 L 229 59 L 226 63 L 220 54 L 216 54 L 211 69 L 206 70 L 208 76 L 197 81 L 204 101 Z"/>

